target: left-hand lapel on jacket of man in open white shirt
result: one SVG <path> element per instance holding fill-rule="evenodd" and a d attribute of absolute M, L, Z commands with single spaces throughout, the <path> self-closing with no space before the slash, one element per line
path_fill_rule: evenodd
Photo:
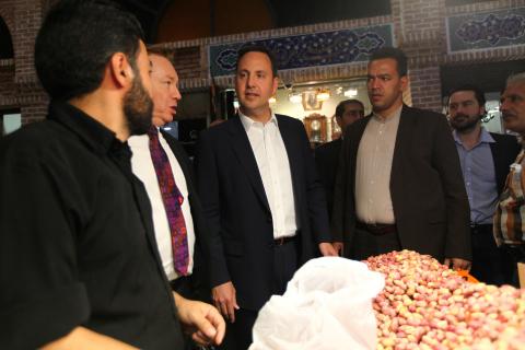
<path fill-rule="evenodd" d="M 238 116 L 233 118 L 229 127 L 233 151 L 237 156 L 238 162 L 242 164 L 260 202 L 270 212 L 270 206 L 268 203 L 268 198 L 266 197 L 257 161 L 255 160 L 254 151 L 252 150 L 248 136 L 246 135 L 246 130 L 244 130 L 241 118 Z"/>

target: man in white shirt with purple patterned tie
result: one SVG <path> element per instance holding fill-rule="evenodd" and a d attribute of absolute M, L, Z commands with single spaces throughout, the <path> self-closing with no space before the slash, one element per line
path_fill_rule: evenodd
<path fill-rule="evenodd" d="M 159 254 L 173 290 L 187 298 L 206 300 L 205 273 L 200 270 L 203 266 L 199 265 L 199 247 L 196 245 L 196 233 L 202 230 L 201 209 L 191 182 L 191 163 L 182 145 L 172 136 L 160 129 L 160 127 L 173 120 L 177 104 L 182 98 L 178 91 L 178 75 L 163 51 L 150 50 L 149 57 L 154 102 L 153 126 L 156 129 L 153 132 L 167 156 L 175 185 L 183 198 L 180 209 L 186 228 L 184 244 L 188 253 L 185 271 L 177 271 L 174 264 L 176 253 L 174 253 L 175 248 L 172 241 L 175 237 L 171 231 L 161 190 L 162 185 L 160 185 L 150 150 L 151 132 L 132 137 L 128 141 L 133 153 L 131 159 L 132 171 L 142 180 L 148 191 Z M 198 260 L 197 267 L 195 265 L 196 258 Z"/>

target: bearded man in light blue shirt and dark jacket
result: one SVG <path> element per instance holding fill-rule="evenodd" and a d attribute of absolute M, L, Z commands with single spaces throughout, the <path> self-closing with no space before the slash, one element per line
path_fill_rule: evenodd
<path fill-rule="evenodd" d="M 485 96 L 475 85 L 451 91 L 448 114 L 470 205 L 470 273 L 489 284 L 510 283 L 511 265 L 495 245 L 492 217 L 520 144 L 515 137 L 488 132 L 481 126 Z"/>

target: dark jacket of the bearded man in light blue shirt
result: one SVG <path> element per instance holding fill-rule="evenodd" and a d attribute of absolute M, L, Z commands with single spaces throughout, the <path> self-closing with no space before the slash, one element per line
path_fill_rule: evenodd
<path fill-rule="evenodd" d="M 494 132 L 490 132 L 490 136 L 492 136 L 495 141 L 490 143 L 490 151 L 492 152 L 492 160 L 494 162 L 498 195 L 501 195 L 501 191 L 505 187 L 510 165 L 514 163 L 522 148 L 514 136 Z"/>

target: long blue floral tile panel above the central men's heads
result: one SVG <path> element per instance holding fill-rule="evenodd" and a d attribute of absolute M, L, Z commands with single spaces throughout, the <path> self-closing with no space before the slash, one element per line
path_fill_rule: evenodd
<path fill-rule="evenodd" d="M 210 45 L 210 74 L 233 74 L 237 51 L 246 45 L 270 49 L 276 55 L 279 70 L 359 62 L 368 60 L 369 55 L 380 47 L 394 46 L 393 25 Z"/>

